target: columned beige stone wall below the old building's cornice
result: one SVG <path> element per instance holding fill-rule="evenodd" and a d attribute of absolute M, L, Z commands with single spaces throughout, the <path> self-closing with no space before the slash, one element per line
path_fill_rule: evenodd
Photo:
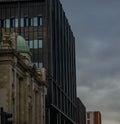
<path fill-rule="evenodd" d="M 31 73 L 0 63 L 0 106 L 13 113 L 14 124 L 44 124 L 44 97 Z"/>

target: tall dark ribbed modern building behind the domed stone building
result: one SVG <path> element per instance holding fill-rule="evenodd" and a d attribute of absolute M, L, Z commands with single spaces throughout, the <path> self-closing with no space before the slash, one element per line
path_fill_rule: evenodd
<path fill-rule="evenodd" d="M 25 38 L 47 70 L 46 124 L 76 124 L 75 38 L 59 0 L 0 0 L 4 31 Z"/>

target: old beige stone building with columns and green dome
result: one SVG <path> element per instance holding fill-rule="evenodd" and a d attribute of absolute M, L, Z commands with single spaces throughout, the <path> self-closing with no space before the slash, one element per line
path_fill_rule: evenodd
<path fill-rule="evenodd" d="M 0 107 L 13 124 L 45 124 L 45 69 L 31 63 L 22 36 L 4 33 L 0 46 Z"/>

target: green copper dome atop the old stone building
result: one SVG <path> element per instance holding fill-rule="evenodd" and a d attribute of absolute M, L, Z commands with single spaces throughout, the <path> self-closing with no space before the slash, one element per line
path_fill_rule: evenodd
<path fill-rule="evenodd" d="M 28 53 L 29 55 L 31 55 L 30 49 L 25 39 L 20 35 L 17 36 L 17 51 L 21 53 Z"/>

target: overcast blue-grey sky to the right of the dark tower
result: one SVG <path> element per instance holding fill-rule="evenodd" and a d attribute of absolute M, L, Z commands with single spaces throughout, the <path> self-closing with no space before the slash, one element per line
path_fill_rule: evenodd
<path fill-rule="evenodd" d="M 77 94 L 120 124 L 120 0 L 61 0 L 76 38 Z"/>

